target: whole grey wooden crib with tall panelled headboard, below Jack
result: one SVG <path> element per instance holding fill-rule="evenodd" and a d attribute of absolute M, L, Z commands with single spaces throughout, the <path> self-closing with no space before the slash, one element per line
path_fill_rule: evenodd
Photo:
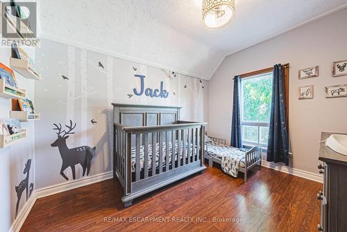
<path fill-rule="evenodd" d="M 180 107 L 113 103 L 113 176 L 125 207 L 144 194 L 204 172 L 206 123 L 180 121 Z"/>

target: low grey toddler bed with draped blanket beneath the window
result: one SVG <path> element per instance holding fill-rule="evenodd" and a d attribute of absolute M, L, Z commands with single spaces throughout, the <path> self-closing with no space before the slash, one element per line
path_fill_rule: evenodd
<path fill-rule="evenodd" d="M 209 140 L 210 139 L 210 140 Z M 223 172 L 237 177 L 238 172 L 244 173 L 244 182 L 247 181 L 247 171 L 255 165 L 262 167 L 262 148 L 238 149 L 226 145 L 226 140 L 207 138 L 205 142 L 205 156 L 209 166 L 213 162 L 219 163 Z"/>

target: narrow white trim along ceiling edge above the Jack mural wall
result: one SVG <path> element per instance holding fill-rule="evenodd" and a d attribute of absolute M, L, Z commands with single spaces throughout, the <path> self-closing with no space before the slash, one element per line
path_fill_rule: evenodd
<path fill-rule="evenodd" d="M 56 37 L 54 35 L 50 35 L 48 33 L 41 33 L 39 35 L 39 38 L 46 39 L 46 40 L 51 40 L 51 41 L 54 41 L 54 42 L 59 42 L 61 44 L 68 44 L 68 45 L 71 45 L 71 46 L 74 46 L 74 47 L 78 47 L 80 49 L 86 49 L 88 51 L 94 51 L 96 53 L 105 54 L 107 56 L 113 56 L 115 58 L 119 58 L 119 59 L 122 59 L 122 60 L 128 60 L 128 61 L 139 63 L 139 64 L 142 64 L 142 65 L 148 65 L 148 66 L 156 67 L 156 68 L 159 68 L 159 69 L 165 69 L 165 70 L 169 70 L 169 71 L 174 71 L 174 72 L 176 72 L 178 74 L 183 74 L 185 76 L 191 76 L 193 78 L 203 79 L 205 81 L 210 81 L 210 79 L 213 76 L 214 72 L 218 69 L 219 65 L 223 62 L 223 60 L 225 58 L 224 57 L 221 60 L 221 62 L 217 65 L 217 67 L 214 69 L 214 72 L 212 72 L 212 75 L 208 76 L 208 74 L 207 74 L 206 76 L 201 76 L 199 74 L 194 74 L 192 72 L 186 72 L 184 70 L 176 69 L 175 67 L 167 67 L 167 66 L 159 64 L 159 63 L 149 62 L 147 60 L 135 58 L 133 56 L 126 56 L 126 55 L 121 54 L 121 53 L 107 51 L 105 49 L 100 49 L 99 47 L 95 47 L 95 46 L 91 46 L 91 45 L 88 45 L 88 44 L 84 44 L 82 42 L 76 42 L 74 40 L 67 40 L 67 39 L 64 39 L 64 38 L 58 38 L 58 37 Z"/>

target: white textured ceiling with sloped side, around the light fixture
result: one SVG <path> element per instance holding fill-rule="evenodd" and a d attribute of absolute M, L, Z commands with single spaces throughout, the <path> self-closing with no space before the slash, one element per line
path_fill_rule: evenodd
<path fill-rule="evenodd" d="M 73 42 L 210 79 L 225 56 L 347 6 L 347 0 L 236 0 L 234 22 L 208 31 L 202 0 L 41 0 L 43 38 Z"/>

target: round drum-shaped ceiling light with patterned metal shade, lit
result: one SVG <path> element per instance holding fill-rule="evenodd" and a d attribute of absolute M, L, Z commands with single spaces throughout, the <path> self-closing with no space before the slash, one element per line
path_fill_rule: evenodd
<path fill-rule="evenodd" d="M 203 22 L 210 29 L 229 24 L 235 16 L 235 0 L 203 0 Z"/>

